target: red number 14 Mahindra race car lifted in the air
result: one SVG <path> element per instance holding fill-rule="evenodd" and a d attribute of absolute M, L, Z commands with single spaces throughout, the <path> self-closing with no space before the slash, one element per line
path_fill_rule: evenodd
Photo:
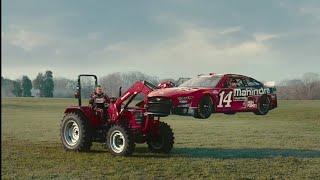
<path fill-rule="evenodd" d="M 172 113 L 206 119 L 212 113 L 266 115 L 277 107 L 276 88 L 239 74 L 199 75 L 178 87 L 159 88 L 148 101 L 170 100 Z"/>

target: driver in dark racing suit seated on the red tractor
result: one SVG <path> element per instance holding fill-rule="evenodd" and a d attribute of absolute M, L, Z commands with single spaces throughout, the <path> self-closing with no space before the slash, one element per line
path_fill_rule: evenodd
<path fill-rule="evenodd" d="M 97 85 L 95 91 L 91 94 L 89 105 L 93 108 L 96 115 L 100 114 L 103 120 L 108 117 L 107 108 L 110 103 L 110 98 L 104 94 L 100 85 Z"/>

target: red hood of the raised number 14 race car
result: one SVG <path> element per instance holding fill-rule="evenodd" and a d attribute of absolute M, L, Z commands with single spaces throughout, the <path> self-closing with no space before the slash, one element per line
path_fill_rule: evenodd
<path fill-rule="evenodd" d="M 148 97 L 173 97 L 173 96 L 184 96 L 190 95 L 194 92 L 203 90 L 205 88 L 188 88 L 188 87 L 175 87 L 175 88 L 164 88 L 157 89 L 148 94 Z"/>

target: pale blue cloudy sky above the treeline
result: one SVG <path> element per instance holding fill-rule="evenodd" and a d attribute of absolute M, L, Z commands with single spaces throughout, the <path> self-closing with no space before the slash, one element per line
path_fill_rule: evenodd
<path fill-rule="evenodd" d="M 2 76 L 320 73 L 320 1 L 4 0 Z"/>

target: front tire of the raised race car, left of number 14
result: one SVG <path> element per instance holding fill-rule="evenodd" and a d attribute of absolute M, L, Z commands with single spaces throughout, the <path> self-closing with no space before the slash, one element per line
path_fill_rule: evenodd
<path fill-rule="evenodd" d="M 197 119 L 207 119 L 213 113 L 213 102 L 210 96 L 203 96 L 195 109 L 194 117 Z"/>

